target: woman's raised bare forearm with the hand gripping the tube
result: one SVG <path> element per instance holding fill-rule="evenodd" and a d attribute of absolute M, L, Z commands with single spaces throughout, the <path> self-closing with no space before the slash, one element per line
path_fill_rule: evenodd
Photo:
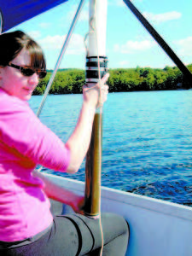
<path fill-rule="evenodd" d="M 96 84 L 93 87 L 86 87 L 84 85 L 84 102 L 79 114 L 79 121 L 69 137 L 66 147 L 70 150 L 70 163 L 67 167 L 67 172 L 74 173 L 79 170 L 79 166 L 84 160 L 84 156 L 90 145 L 90 136 L 92 131 L 93 119 L 96 112 L 98 102 L 103 104 L 107 100 L 108 85 L 105 83 L 108 80 L 107 73 L 102 78 L 101 84 Z M 101 86 L 100 86 L 101 85 Z"/>

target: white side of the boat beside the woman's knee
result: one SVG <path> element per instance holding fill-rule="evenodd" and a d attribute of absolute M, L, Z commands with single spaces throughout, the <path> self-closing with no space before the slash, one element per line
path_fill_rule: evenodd
<path fill-rule="evenodd" d="M 84 183 L 53 175 L 50 178 L 84 195 Z M 191 207 L 102 187 L 102 212 L 118 213 L 130 224 L 127 256 L 192 255 Z"/>

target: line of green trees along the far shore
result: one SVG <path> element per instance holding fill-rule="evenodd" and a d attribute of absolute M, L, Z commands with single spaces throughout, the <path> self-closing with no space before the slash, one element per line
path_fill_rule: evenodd
<path fill-rule="evenodd" d="M 188 66 L 192 73 L 192 64 Z M 40 80 L 33 95 L 43 95 L 52 71 Z M 138 90 L 177 90 L 189 89 L 192 84 L 183 77 L 177 67 L 150 68 L 117 68 L 109 70 L 109 92 Z M 63 69 L 55 75 L 49 94 L 79 94 L 85 83 L 85 71 L 81 69 Z"/>

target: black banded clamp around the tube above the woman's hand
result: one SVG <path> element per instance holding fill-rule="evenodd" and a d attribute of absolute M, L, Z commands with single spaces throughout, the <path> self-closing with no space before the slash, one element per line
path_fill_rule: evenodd
<path fill-rule="evenodd" d="M 106 56 L 90 56 L 86 58 L 86 84 L 97 83 L 106 73 L 108 73 L 108 58 Z"/>

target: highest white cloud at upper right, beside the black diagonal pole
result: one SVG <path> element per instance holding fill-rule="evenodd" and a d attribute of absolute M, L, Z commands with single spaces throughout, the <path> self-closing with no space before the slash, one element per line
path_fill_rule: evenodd
<path fill-rule="evenodd" d="M 143 16 L 148 20 L 154 21 L 154 23 L 161 23 L 161 22 L 165 22 L 168 20 L 180 19 L 182 14 L 178 13 L 176 11 L 168 12 L 165 14 L 159 14 L 159 15 L 154 15 L 152 13 L 144 12 Z"/>

